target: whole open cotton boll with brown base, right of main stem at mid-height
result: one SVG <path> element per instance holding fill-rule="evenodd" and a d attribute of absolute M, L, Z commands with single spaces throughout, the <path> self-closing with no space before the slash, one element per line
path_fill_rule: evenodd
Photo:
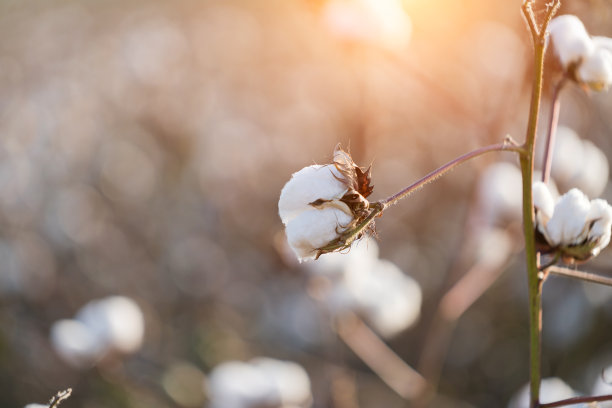
<path fill-rule="evenodd" d="M 536 182 L 533 203 L 544 252 L 573 263 L 597 256 L 610 242 L 612 207 L 607 201 L 589 200 L 574 188 L 555 202 L 548 187 Z"/>

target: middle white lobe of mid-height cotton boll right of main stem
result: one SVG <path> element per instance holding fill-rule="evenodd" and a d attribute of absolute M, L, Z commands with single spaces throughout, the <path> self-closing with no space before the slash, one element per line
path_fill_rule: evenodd
<path fill-rule="evenodd" d="M 578 189 L 571 189 L 561 196 L 555 205 L 553 216 L 546 224 L 550 243 L 553 245 L 577 243 L 585 229 L 590 207 L 589 199 Z"/>

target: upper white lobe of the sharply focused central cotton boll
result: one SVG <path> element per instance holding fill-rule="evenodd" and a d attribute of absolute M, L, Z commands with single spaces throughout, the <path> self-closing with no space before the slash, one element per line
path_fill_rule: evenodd
<path fill-rule="evenodd" d="M 338 178 L 334 165 L 313 165 L 293 173 L 278 201 L 278 212 L 285 225 L 301 212 L 311 210 L 310 203 L 319 199 L 342 198 L 347 188 Z"/>

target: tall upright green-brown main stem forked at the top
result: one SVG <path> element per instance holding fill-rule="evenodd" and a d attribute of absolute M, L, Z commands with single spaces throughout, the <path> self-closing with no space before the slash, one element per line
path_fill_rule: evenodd
<path fill-rule="evenodd" d="M 540 407 L 540 382 L 542 378 L 541 349 L 542 349 L 542 281 L 538 276 L 537 253 L 533 225 L 533 158 L 540 115 L 540 101 L 542 98 L 542 82 L 544 78 L 544 54 L 546 51 L 546 34 L 548 23 L 560 6 L 558 0 L 554 1 L 546 13 L 541 26 L 537 24 L 533 12 L 533 0 L 523 2 L 523 15 L 530 28 L 534 47 L 534 79 L 529 110 L 529 122 L 525 137 L 524 153 L 521 155 L 521 172 L 523 176 L 523 235 L 525 239 L 525 256 L 527 261 L 527 281 L 529 290 L 529 355 L 530 379 L 529 395 L 530 407 Z"/>

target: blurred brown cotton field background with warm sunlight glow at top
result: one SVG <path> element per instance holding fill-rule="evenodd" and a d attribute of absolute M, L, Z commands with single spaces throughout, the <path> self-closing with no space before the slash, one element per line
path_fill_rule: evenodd
<path fill-rule="evenodd" d="M 0 406 L 72 388 L 62 407 L 406 407 L 409 367 L 439 378 L 431 406 L 525 406 L 514 155 L 343 255 L 299 263 L 278 215 L 338 143 L 376 200 L 522 141 L 520 3 L 0 2 Z M 610 1 L 560 13 L 612 36 Z M 562 101 L 557 188 L 611 200 L 612 95 Z M 612 273 L 612 250 L 587 269 Z M 546 285 L 543 399 L 612 392 L 612 289 Z"/>

